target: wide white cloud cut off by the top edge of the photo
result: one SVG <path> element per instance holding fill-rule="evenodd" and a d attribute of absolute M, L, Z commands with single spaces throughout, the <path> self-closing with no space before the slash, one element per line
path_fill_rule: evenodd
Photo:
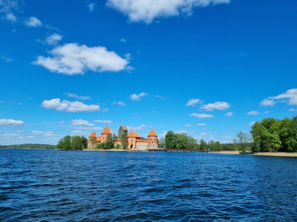
<path fill-rule="evenodd" d="M 127 15 L 130 22 L 151 23 L 159 17 L 191 15 L 195 7 L 229 2 L 230 0 L 108 0 L 106 5 Z"/>

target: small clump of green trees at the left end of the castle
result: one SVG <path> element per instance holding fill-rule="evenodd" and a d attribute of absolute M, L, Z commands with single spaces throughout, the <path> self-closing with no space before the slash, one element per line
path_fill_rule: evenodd
<path fill-rule="evenodd" d="M 84 136 L 64 136 L 60 139 L 57 148 L 61 150 L 81 150 L 88 148 L 88 139 Z"/>

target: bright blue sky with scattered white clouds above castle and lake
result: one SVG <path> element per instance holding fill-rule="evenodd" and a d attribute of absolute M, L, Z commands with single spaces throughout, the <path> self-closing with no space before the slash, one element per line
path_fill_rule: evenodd
<path fill-rule="evenodd" d="M 231 142 L 253 121 L 291 118 L 296 10 L 293 0 L 2 0 L 0 144 L 56 144 L 107 123 Z"/>

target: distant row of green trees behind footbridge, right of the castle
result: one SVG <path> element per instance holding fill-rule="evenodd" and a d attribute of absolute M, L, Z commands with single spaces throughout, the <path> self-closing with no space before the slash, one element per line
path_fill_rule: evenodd
<path fill-rule="evenodd" d="M 247 147 L 251 147 L 249 143 Z M 221 144 L 219 141 L 209 141 L 208 143 L 200 139 L 199 143 L 192 136 L 186 133 L 178 134 L 168 131 L 165 138 L 158 139 L 159 148 L 167 149 L 197 149 L 197 150 L 239 150 L 238 144 Z M 247 148 L 249 149 L 249 148 Z"/>

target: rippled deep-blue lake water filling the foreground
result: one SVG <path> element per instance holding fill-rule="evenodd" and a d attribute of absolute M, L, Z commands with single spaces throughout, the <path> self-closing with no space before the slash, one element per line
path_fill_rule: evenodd
<path fill-rule="evenodd" d="M 0 221 L 297 221 L 297 158 L 0 149 Z"/>

